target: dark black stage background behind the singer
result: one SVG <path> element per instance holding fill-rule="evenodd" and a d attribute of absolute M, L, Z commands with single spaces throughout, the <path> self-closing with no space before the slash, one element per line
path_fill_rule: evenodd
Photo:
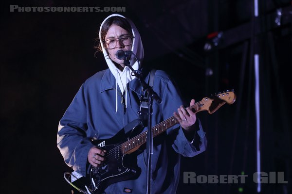
<path fill-rule="evenodd" d="M 235 90 L 234 104 L 197 114 L 208 147 L 194 158 L 182 158 L 179 194 L 256 193 L 253 55 L 258 53 L 261 171 L 284 172 L 289 182 L 262 184 L 261 193 L 291 194 L 292 5 L 290 0 L 258 1 L 257 18 L 253 0 L 1 1 L 0 193 L 71 193 L 63 178 L 71 169 L 56 147 L 58 121 L 80 85 L 107 68 L 100 52 L 94 57 L 93 46 L 100 23 L 113 14 L 9 12 L 16 4 L 125 6 L 119 14 L 131 18 L 141 33 L 143 65 L 170 74 L 185 105 L 191 98 Z M 183 184 L 184 171 L 248 177 L 245 184 Z"/>

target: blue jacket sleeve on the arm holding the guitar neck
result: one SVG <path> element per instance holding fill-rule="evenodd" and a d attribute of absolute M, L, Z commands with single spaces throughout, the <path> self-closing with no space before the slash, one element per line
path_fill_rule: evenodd
<path fill-rule="evenodd" d="M 162 102 L 162 110 L 165 118 L 168 118 L 170 116 L 173 116 L 173 112 L 177 112 L 177 109 L 183 105 L 183 102 L 181 100 L 180 94 L 178 92 L 178 89 L 175 87 L 172 81 L 168 81 L 164 92 L 163 92 L 163 102 Z M 199 144 L 198 146 L 195 146 L 195 142 L 189 142 L 187 138 L 184 135 L 182 127 L 178 128 L 171 128 L 167 130 L 167 134 L 169 135 L 175 135 L 174 141 L 172 144 L 173 149 L 183 156 L 186 157 L 193 157 L 201 152 L 205 151 L 207 146 L 207 139 L 205 137 L 205 132 L 202 129 L 201 122 L 197 118 L 197 121 L 199 122 L 199 129 L 197 129 L 195 137 L 199 137 Z M 177 131 L 178 130 L 178 131 Z M 197 138 L 194 137 L 194 140 Z"/>

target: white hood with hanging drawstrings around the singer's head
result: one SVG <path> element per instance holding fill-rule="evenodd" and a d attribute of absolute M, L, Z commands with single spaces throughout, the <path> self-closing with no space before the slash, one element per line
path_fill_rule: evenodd
<path fill-rule="evenodd" d="M 100 25 L 99 40 L 100 40 L 102 52 L 104 54 L 106 62 L 108 64 L 109 68 L 110 68 L 110 71 L 111 71 L 112 75 L 115 77 L 116 85 L 119 86 L 119 88 L 122 91 L 122 93 L 126 90 L 126 92 L 125 92 L 126 93 L 126 97 L 125 98 L 126 98 L 126 107 L 127 107 L 127 101 L 128 100 L 127 100 L 127 87 L 126 86 L 127 86 L 127 83 L 129 81 L 132 81 L 136 77 L 131 75 L 131 71 L 127 66 L 125 66 L 124 70 L 121 71 L 120 69 L 118 69 L 116 67 L 116 65 L 114 65 L 114 63 L 110 59 L 110 56 L 109 56 L 109 54 L 107 52 L 107 49 L 105 49 L 105 47 L 103 45 L 103 42 L 101 40 L 102 26 L 105 23 L 105 21 L 107 19 L 109 19 L 110 17 L 112 17 L 112 16 L 120 16 L 120 17 L 126 18 L 125 16 L 122 16 L 122 15 L 119 15 L 119 14 L 112 14 L 112 15 L 108 16 L 107 18 L 105 18 L 105 20 Z M 128 22 L 131 25 L 132 33 L 133 33 L 133 36 L 134 36 L 131 51 L 133 52 L 134 55 L 136 55 L 136 57 L 139 60 L 139 63 L 141 63 L 143 58 L 144 58 L 144 49 L 143 49 L 143 45 L 142 45 L 140 34 L 139 34 L 136 26 L 134 25 L 134 23 L 130 19 L 128 19 L 128 18 L 126 18 L 126 19 L 128 20 Z M 136 59 L 134 57 L 131 57 L 130 65 L 133 67 L 134 70 L 140 69 L 139 63 L 136 61 Z M 116 91 L 117 91 L 117 89 L 116 89 Z M 117 92 L 116 92 L 116 111 L 117 111 Z"/>

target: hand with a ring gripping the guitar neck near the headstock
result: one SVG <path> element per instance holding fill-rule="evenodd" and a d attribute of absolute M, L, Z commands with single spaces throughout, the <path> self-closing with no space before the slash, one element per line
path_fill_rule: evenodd
<path fill-rule="evenodd" d="M 195 100 L 192 99 L 190 106 L 195 104 Z M 184 109 L 183 106 L 178 108 L 178 113 L 173 113 L 175 118 L 180 122 L 183 129 L 192 131 L 194 130 L 194 124 L 197 120 L 196 113 L 194 113 L 190 108 Z"/>

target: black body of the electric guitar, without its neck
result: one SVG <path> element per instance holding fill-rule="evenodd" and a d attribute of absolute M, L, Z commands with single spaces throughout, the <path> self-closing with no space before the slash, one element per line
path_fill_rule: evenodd
<path fill-rule="evenodd" d="M 137 154 L 141 151 L 123 154 L 120 148 L 123 143 L 143 130 L 144 126 L 136 120 L 128 126 L 133 126 L 133 123 L 136 126 L 127 134 L 124 132 L 126 126 L 110 139 L 93 141 L 95 146 L 107 151 L 106 161 L 99 167 L 91 166 L 90 174 L 80 178 L 74 184 L 80 185 L 82 190 L 86 190 L 85 186 L 87 186 L 91 194 L 101 194 L 112 183 L 139 177 L 141 169 L 137 165 Z"/>

